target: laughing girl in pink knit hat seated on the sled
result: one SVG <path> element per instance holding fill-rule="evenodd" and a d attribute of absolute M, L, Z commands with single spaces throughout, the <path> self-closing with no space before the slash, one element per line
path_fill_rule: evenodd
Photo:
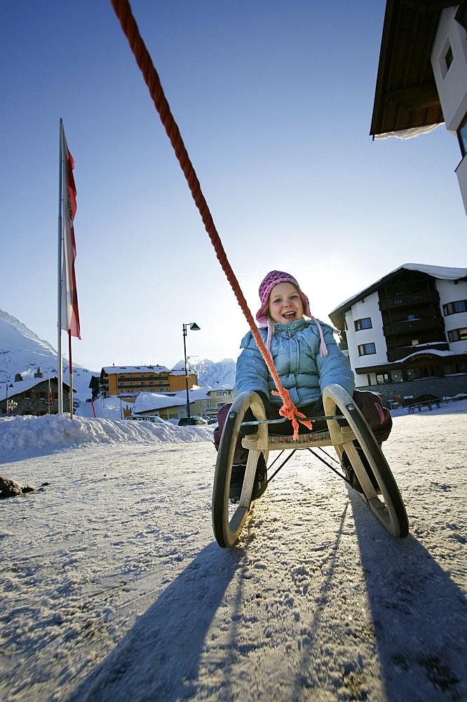
<path fill-rule="evenodd" d="M 378 395 L 355 389 L 353 371 L 348 358 L 334 340 L 332 327 L 313 317 L 309 299 L 300 289 L 297 280 L 289 273 L 273 270 L 259 286 L 259 299 L 261 307 L 256 315 L 259 332 L 271 352 L 280 382 L 288 390 L 297 409 L 306 417 L 323 416 L 322 392 L 326 385 L 338 383 L 353 396 L 377 441 L 385 441 L 391 432 L 391 414 L 382 406 Z M 271 394 L 276 386 L 251 331 L 243 338 L 241 349 L 236 369 L 236 395 L 245 390 L 255 390 L 264 402 L 266 417 L 279 419 L 279 409 L 283 402 L 280 397 Z M 219 426 L 214 432 L 216 449 L 229 407 L 230 405 L 224 405 L 219 411 Z M 254 418 L 248 417 L 247 413 L 245 421 L 248 420 Z M 325 428 L 325 421 L 313 423 L 313 431 Z M 299 433 L 309 431 L 304 425 L 299 425 Z M 286 420 L 269 425 L 269 433 L 292 435 L 292 423 Z M 233 500 L 240 497 L 247 458 L 248 449 L 243 449 L 240 438 L 231 475 L 230 497 Z M 350 464 L 345 466 L 346 471 L 353 473 L 349 466 Z M 358 489 L 360 486 L 355 474 L 350 475 L 350 479 Z M 257 499 L 264 493 L 266 483 L 266 464 L 263 459 L 258 461 L 252 499 Z"/>

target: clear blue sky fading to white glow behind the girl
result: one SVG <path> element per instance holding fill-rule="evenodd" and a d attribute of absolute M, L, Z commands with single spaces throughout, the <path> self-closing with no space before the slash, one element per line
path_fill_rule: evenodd
<path fill-rule="evenodd" d="M 133 0 L 252 311 L 273 268 L 327 314 L 403 263 L 465 266 L 445 126 L 369 136 L 384 0 Z M 59 121 L 92 370 L 238 355 L 247 326 L 110 0 L 0 3 L 0 307 L 56 346 Z"/>

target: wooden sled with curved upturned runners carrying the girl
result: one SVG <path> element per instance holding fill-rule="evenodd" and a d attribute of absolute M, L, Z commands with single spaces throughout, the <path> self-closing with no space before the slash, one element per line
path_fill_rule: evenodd
<path fill-rule="evenodd" d="M 212 528 L 219 546 L 228 548 L 234 545 L 248 519 L 252 505 L 253 482 L 255 480 L 258 458 L 261 453 L 264 454 L 267 463 L 269 451 L 292 450 L 285 458 L 282 464 L 284 465 L 297 449 L 309 449 L 313 455 L 320 458 L 334 472 L 337 472 L 339 477 L 349 482 L 346 475 L 342 475 L 339 470 L 336 470 L 328 463 L 328 460 L 335 461 L 336 465 L 339 466 L 339 463 L 342 463 L 345 451 L 346 456 L 344 455 L 344 459 L 348 458 L 348 464 L 353 468 L 360 483 L 362 489 L 360 494 L 370 507 L 370 510 L 393 536 L 400 538 L 407 536 L 409 525 L 402 497 L 391 469 L 386 463 L 386 458 L 384 458 L 363 414 L 341 385 L 327 385 L 323 392 L 323 404 L 325 419 L 327 420 L 327 431 L 299 435 L 298 439 L 294 441 L 292 437 L 269 435 L 268 425 L 278 420 L 266 420 L 262 399 L 256 392 L 242 392 L 241 395 L 236 397 L 224 424 L 217 453 L 214 486 L 212 489 Z M 243 428 L 245 429 L 250 425 L 252 428 L 257 427 L 257 432 L 242 439 L 242 445 L 246 449 L 250 449 L 250 451 L 248 453 L 241 498 L 239 503 L 233 507 L 229 503 L 232 463 L 238 432 L 245 412 L 249 408 L 256 421 L 245 423 Z M 312 421 L 316 421 L 316 419 L 318 418 L 313 418 Z M 357 439 L 360 444 L 360 451 L 364 453 L 371 467 L 372 476 L 368 474 L 367 468 L 365 468 L 365 464 L 360 458 L 359 449 L 353 444 L 354 439 Z M 322 458 L 320 454 L 313 451 L 315 447 L 321 446 L 333 446 L 339 461 L 336 461 L 327 452 L 323 451 L 325 458 Z M 282 465 L 280 468 L 282 468 Z M 269 466 L 269 470 L 271 468 L 272 466 Z M 276 473 L 273 475 L 276 475 Z"/>

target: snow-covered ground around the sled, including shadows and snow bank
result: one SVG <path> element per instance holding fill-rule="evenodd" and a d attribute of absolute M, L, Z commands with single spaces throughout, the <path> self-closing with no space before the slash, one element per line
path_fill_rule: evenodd
<path fill-rule="evenodd" d="M 6 702 L 467 700 L 467 401 L 398 413 L 396 540 L 308 451 L 220 549 L 212 427 L 0 420 Z"/>

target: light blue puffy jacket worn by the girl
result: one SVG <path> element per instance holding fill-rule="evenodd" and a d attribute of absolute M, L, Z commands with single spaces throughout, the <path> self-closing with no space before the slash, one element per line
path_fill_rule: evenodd
<path fill-rule="evenodd" d="M 347 357 L 334 340 L 332 327 L 320 322 L 327 346 L 327 356 L 320 356 L 320 335 L 311 319 L 295 319 L 289 324 L 275 324 L 271 339 L 271 355 L 283 384 L 295 406 L 316 402 L 326 385 L 339 383 L 349 395 L 355 390 L 353 371 Z M 267 331 L 260 329 L 264 343 Z M 242 339 L 243 351 L 237 360 L 235 391 L 262 390 L 271 404 L 282 400 L 271 395 L 273 378 L 259 352 L 251 331 Z"/>

